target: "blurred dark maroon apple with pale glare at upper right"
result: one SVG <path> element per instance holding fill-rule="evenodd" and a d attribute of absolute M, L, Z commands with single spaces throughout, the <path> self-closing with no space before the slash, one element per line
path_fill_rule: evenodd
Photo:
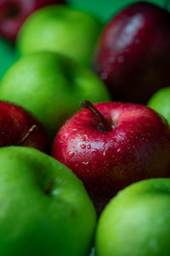
<path fill-rule="evenodd" d="M 114 101 L 146 103 L 170 84 L 170 14 L 146 2 L 122 9 L 105 26 L 94 70 Z"/>

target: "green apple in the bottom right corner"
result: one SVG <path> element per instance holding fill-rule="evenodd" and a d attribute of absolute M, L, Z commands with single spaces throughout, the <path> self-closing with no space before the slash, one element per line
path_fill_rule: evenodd
<path fill-rule="evenodd" d="M 170 178 L 133 183 L 99 218 L 96 256 L 169 256 Z"/>

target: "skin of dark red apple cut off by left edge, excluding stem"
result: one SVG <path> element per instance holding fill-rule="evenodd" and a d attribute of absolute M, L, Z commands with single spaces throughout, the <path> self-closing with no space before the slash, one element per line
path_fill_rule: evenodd
<path fill-rule="evenodd" d="M 32 125 L 37 125 L 37 130 L 20 144 Z M 0 102 L 0 147 L 9 145 L 32 147 L 48 152 L 48 135 L 42 124 L 24 108 L 9 102 Z"/>

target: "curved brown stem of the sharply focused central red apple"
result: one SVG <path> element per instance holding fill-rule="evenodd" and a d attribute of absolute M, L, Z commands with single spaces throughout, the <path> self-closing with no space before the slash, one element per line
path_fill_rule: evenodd
<path fill-rule="evenodd" d="M 94 105 L 89 101 L 83 101 L 81 103 L 82 108 L 88 108 L 92 113 L 94 113 L 95 117 L 99 121 L 99 125 L 102 127 L 102 131 L 112 131 L 112 127 L 109 122 L 104 118 L 104 116 L 99 113 L 99 110 L 94 107 Z"/>

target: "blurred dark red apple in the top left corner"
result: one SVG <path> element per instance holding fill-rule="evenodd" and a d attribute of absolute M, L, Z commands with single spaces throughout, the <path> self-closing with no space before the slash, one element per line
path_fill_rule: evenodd
<path fill-rule="evenodd" d="M 0 36 L 14 43 L 20 26 L 37 9 L 65 3 L 65 0 L 1 0 L 0 1 Z"/>

